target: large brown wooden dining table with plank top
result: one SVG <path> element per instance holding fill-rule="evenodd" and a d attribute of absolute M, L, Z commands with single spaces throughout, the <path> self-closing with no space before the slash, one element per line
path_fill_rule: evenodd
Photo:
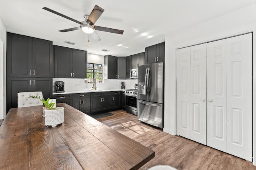
<path fill-rule="evenodd" d="M 42 106 L 12 108 L 0 127 L 0 169 L 139 169 L 155 156 L 134 141 L 67 104 L 64 123 L 44 125 Z"/>

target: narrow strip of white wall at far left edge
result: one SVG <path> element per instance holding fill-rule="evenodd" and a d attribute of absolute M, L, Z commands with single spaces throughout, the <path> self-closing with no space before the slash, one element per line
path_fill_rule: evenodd
<path fill-rule="evenodd" d="M 6 117 L 6 29 L 0 18 L 0 119 Z"/>

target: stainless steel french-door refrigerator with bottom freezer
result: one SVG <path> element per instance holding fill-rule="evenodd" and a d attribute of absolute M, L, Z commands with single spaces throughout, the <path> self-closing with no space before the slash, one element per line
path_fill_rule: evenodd
<path fill-rule="evenodd" d="M 138 120 L 163 128 L 164 63 L 138 66 Z"/>

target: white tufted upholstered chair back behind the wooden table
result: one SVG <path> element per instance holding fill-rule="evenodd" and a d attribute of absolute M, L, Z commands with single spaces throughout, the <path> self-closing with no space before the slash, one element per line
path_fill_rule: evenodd
<path fill-rule="evenodd" d="M 42 92 L 20 92 L 20 93 L 18 93 L 18 107 L 43 105 L 41 100 L 29 98 L 29 96 L 40 96 L 40 99 L 42 99 L 43 93 Z"/>

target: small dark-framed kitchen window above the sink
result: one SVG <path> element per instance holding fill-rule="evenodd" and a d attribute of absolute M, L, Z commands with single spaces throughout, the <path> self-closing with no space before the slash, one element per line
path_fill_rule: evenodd
<path fill-rule="evenodd" d="M 96 78 L 96 82 L 102 82 L 102 64 L 87 63 L 87 78 Z"/>

